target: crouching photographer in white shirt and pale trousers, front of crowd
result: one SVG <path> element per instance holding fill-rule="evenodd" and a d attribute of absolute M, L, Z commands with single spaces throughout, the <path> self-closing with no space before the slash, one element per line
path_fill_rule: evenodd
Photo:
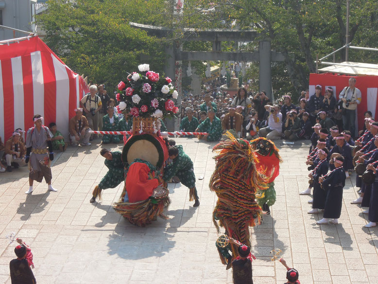
<path fill-rule="evenodd" d="M 279 112 L 279 106 L 264 107 L 269 111 L 268 126 L 260 129 L 260 136 L 269 140 L 279 140 L 282 135 L 282 113 Z"/>

